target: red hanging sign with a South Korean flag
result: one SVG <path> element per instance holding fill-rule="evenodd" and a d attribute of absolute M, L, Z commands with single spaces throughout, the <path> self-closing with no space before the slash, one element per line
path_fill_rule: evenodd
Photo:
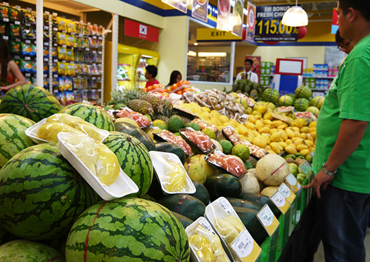
<path fill-rule="evenodd" d="M 125 19 L 125 36 L 132 36 L 158 43 L 159 29 Z"/>

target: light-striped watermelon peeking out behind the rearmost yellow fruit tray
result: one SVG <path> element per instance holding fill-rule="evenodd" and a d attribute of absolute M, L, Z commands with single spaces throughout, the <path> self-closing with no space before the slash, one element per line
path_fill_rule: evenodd
<path fill-rule="evenodd" d="M 107 131 L 114 131 L 113 120 L 106 110 L 88 103 L 76 103 L 64 107 L 60 112 L 81 117 L 88 123 L 92 123 L 97 128 Z"/>

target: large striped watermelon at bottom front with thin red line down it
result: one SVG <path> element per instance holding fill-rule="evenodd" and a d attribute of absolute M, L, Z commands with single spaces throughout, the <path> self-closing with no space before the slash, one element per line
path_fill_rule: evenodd
<path fill-rule="evenodd" d="M 73 224 L 66 261 L 189 261 L 188 237 L 164 206 L 141 198 L 100 202 Z"/>

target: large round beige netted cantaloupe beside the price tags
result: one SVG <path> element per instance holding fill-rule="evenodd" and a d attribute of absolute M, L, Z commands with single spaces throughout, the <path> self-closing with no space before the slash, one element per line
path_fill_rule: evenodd
<path fill-rule="evenodd" d="M 286 160 L 277 154 L 267 154 L 258 160 L 256 171 L 258 179 L 267 186 L 280 186 L 291 174 Z"/>

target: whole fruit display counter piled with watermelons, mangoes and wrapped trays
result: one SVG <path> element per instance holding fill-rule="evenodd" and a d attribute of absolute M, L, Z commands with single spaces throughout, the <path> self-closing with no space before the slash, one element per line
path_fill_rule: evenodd
<path fill-rule="evenodd" d="M 69 106 L 12 88 L 0 103 L 0 261 L 283 259 L 307 217 L 323 98 L 176 88 L 187 89 Z"/>

